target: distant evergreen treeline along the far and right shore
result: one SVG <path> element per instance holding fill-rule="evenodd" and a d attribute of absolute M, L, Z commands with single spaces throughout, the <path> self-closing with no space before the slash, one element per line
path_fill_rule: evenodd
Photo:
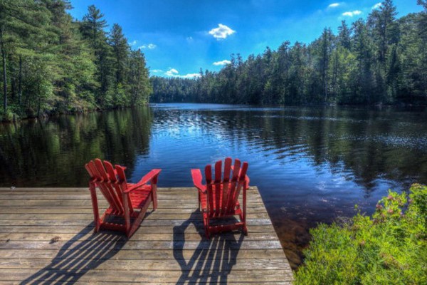
<path fill-rule="evenodd" d="M 396 19 L 391 0 L 366 21 L 325 28 L 306 45 L 289 41 L 262 55 L 231 56 L 197 79 L 150 78 L 153 102 L 243 104 L 427 104 L 427 1 Z"/>

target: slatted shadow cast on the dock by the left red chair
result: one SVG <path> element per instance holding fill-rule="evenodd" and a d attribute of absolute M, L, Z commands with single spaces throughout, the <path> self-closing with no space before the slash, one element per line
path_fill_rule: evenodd
<path fill-rule="evenodd" d="M 81 240 L 92 231 L 93 223 L 65 242 L 51 264 L 20 284 L 74 284 L 88 271 L 114 257 L 127 242 L 123 234 L 105 231 Z"/>

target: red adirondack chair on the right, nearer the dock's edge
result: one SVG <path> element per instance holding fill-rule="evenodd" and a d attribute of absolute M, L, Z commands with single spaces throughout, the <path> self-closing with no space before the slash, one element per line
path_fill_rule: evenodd
<path fill-rule="evenodd" d="M 248 162 L 240 160 L 234 161 L 227 157 L 224 163 L 223 177 L 222 161 L 215 163 L 215 177 L 212 179 L 212 167 L 206 165 L 205 178 L 206 185 L 201 184 L 201 170 L 191 170 L 194 186 L 199 190 L 199 208 L 203 214 L 203 222 L 206 237 L 216 232 L 231 231 L 233 229 L 242 229 L 244 234 L 248 234 L 246 227 L 246 190 L 249 187 Z M 231 175 L 231 177 L 230 177 Z M 240 192 L 243 192 L 243 204 L 238 201 Z M 238 216 L 240 221 L 230 222 L 230 218 Z M 221 223 L 222 222 L 222 223 Z"/>

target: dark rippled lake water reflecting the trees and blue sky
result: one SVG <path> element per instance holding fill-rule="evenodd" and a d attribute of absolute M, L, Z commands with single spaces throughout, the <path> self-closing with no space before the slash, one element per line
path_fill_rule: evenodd
<path fill-rule="evenodd" d="M 0 125 L 0 186 L 85 187 L 94 157 L 126 165 L 133 182 L 160 167 L 160 187 L 191 186 L 192 167 L 238 157 L 295 265 L 317 222 L 427 183 L 426 122 L 425 110 L 203 104 L 24 121 Z"/>

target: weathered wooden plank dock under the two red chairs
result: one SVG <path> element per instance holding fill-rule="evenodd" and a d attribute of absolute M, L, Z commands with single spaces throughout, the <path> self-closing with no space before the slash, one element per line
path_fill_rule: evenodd
<path fill-rule="evenodd" d="M 0 284 L 292 284 L 256 187 L 248 236 L 204 238 L 195 188 L 159 188 L 158 199 L 127 240 L 93 234 L 86 188 L 0 188 Z"/>

